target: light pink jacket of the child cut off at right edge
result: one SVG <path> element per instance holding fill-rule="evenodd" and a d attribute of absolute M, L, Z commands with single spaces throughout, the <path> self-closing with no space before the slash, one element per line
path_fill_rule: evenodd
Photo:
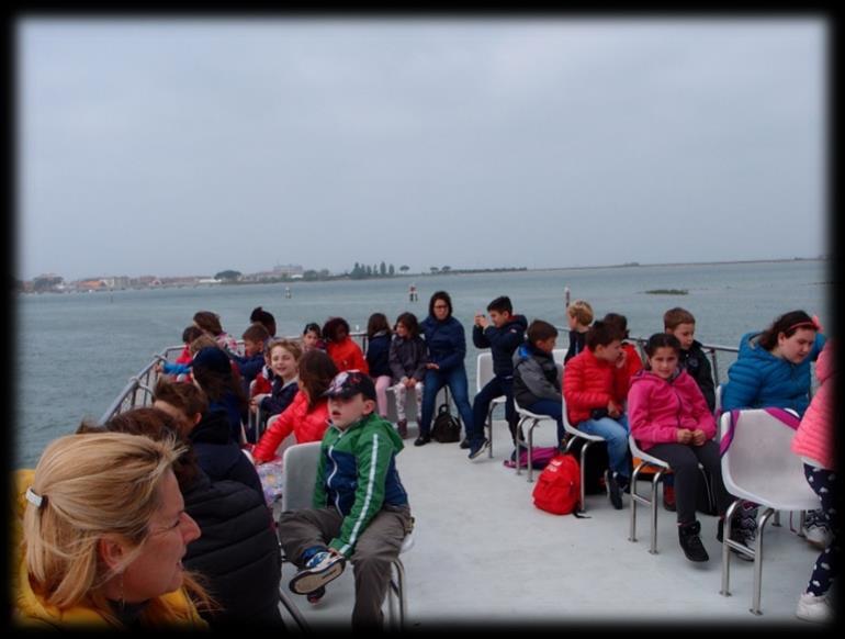
<path fill-rule="evenodd" d="M 792 438 L 792 452 L 801 457 L 809 457 L 821 463 L 822 468 L 831 470 L 834 469 L 835 457 L 833 447 L 835 380 L 831 378 L 836 372 L 832 341 L 831 339 L 827 340 L 815 361 L 815 377 L 819 378 L 821 386 L 813 395 L 804 416 L 801 418 L 796 436 Z"/>

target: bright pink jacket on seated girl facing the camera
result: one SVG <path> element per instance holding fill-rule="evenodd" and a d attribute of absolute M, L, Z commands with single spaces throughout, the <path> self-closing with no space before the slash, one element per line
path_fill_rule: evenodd
<path fill-rule="evenodd" d="M 628 423 L 643 450 L 655 444 L 677 444 L 678 428 L 701 429 L 707 439 L 716 436 L 713 414 L 685 370 L 672 380 L 647 370 L 635 374 L 628 391 Z"/>

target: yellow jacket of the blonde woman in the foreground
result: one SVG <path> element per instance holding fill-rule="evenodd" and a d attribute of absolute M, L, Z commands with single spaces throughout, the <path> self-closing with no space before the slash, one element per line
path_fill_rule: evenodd
<path fill-rule="evenodd" d="M 84 604 L 72 608 L 59 609 L 47 604 L 44 598 L 32 590 L 26 570 L 25 541 L 23 539 L 23 513 L 26 504 L 24 493 L 32 485 L 34 471 L 19 470 L 15 472 L 14 516 L 12 517 L 12 593 L 14 596 L 13 623 L 23 627 L 91 627 L 108 628 L 112 624 L 103 615 Z M 193 603 L 183 588 L 167 593 L 159 597 L 165 604 L 161 617 L 153 623 L 156 626 L 183 626 L 185 628 L 207 628 L 207 624 L 196 613 Z"/>

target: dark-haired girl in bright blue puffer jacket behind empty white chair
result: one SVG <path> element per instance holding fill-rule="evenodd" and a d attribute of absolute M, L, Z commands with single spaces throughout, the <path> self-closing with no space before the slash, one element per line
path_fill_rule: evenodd
<path fill-rule="evenodd" d="M 802 416 L 810 404 L 810 362 L 819 357 L 824 341 L 819 320 L 803 311 L 790 311 L 762 333 L 743 335 L 722 386 L 722 411 L 775 406 Z M 750 546 L 757 532 L 756 504 L 743 502 L 741 513 L 737 532 Z M 830 531 L 821 513 L 810 512 L 805 526 L 808 541 L 826 546 Z"/>

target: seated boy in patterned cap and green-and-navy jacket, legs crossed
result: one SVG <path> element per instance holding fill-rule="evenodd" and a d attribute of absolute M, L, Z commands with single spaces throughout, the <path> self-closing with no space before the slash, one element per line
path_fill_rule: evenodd
<path fill-rule="evenodd" d="M 315 603 L 351 560 L 352 627 L 381 627 L 392 563 L 413 527 L 396 470 L 402 438 L 374 412 L 375 385 L 365 373 L 338 373 L 325 395 L 329 427 L 320 445 L 313 507 L 285 512 L 279 519 L 284 553 L 301 569 L 290 587 Z"/>

